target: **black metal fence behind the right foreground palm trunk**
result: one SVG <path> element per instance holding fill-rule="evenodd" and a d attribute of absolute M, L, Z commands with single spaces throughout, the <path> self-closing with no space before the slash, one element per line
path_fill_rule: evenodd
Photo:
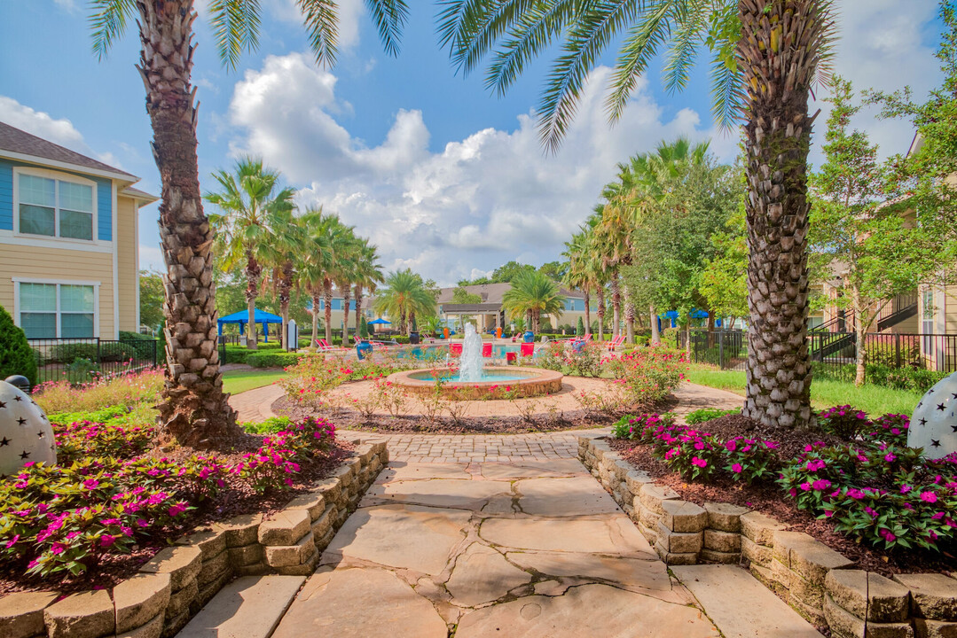
<path fill-rule="evenodd" d="M 685 332 L 676 345 L 686 348 Z M 854 380 L 857 336 L 851 332 L 812 332 L 808 335 L 811 359 L 828 376 Z M 919 368 L 936 372 L 957 371 L 957 335 L 869 333 L 864 339 L 867 364 L 888 369 Z M 725 370 L 744 370 L 747 333 L 741 330 L 692 330 L 691 362 L 709 363 Z"/>

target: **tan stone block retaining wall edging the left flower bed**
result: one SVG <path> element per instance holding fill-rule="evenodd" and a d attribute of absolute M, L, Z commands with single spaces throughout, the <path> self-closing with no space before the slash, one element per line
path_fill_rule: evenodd
<path fill-rule="evenodd" d="M 362 444 L 311 492 L 276 515 L 229 518 L 178 539 L 112 591 L 19 592 L 0 599 L 3 638 L 173 636 L 238 576 L 311 574 L 319 555 L 389 462 L 385 443 Z"/>

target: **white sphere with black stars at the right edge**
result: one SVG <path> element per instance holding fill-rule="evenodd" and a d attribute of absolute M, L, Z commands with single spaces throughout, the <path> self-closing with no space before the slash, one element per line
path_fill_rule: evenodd
<path fill-rule="evenodd" d="M 927 390 L 910 418 L 907 446 L 924 448 L 927 458 L 957 451 L 957 372 Z"/>

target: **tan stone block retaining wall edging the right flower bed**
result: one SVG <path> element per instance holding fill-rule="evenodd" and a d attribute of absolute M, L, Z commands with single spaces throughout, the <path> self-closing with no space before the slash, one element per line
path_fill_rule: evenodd
<path fill-rule="evenodd" d="M 957 638 L 957 574 L 888 580 L 760 512 L 681 500 L 602 439 L 578 437 L 578 456 L 668 564 L 746 561 L 759 581 L 838 638 Z"/>

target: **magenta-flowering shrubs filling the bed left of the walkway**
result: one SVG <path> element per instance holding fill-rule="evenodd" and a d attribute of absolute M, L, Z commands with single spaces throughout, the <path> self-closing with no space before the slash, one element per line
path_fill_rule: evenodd
<path fill-rule="evenodd" d="M 300 464 L 335 439 L 332 424 L 306 419 L 231 465 L 215 455 L 140 456 L 154 433 L 148 426 L 55 423 L 54 433 L 64 462 L 31 463 L 0 479 L 0 569 L 9 573 L 81 574 L 105 555 L 173 534 L 189 510 L 225 490 L 288 488 Z"/>

